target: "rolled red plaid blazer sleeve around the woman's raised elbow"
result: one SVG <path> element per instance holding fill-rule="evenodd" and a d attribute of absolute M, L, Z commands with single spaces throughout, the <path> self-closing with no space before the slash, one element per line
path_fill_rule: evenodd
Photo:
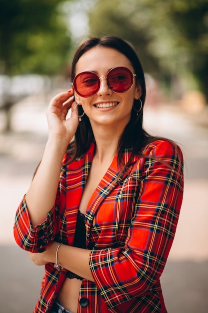
<path fill-rule="evenodd" d="M 65 199 L 65 168 L 61 168 L 59 186 L 56 194 L 54 206 L 48 212 L 45 220 L 32 227 L 29 211 L 25 201 L 25 196 L 20 202 L 14 220 L 14 239 L 16 243 L 24 250 L 30 252 L 43 252 L 46 250 L 48 243 L 54 240 L 61 224 L 61 210 L 64 207 L 60 203 Z"/>

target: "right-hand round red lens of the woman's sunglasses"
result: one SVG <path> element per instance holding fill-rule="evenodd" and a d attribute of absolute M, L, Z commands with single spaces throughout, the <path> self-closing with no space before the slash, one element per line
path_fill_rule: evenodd
<path fill-rule="evenodd" d="M 109 71 L 107 83 L 111 90 L 115 92 L 125 92 L 133 84 L 133 75 L 127 67 L 116 67 Z"/>

